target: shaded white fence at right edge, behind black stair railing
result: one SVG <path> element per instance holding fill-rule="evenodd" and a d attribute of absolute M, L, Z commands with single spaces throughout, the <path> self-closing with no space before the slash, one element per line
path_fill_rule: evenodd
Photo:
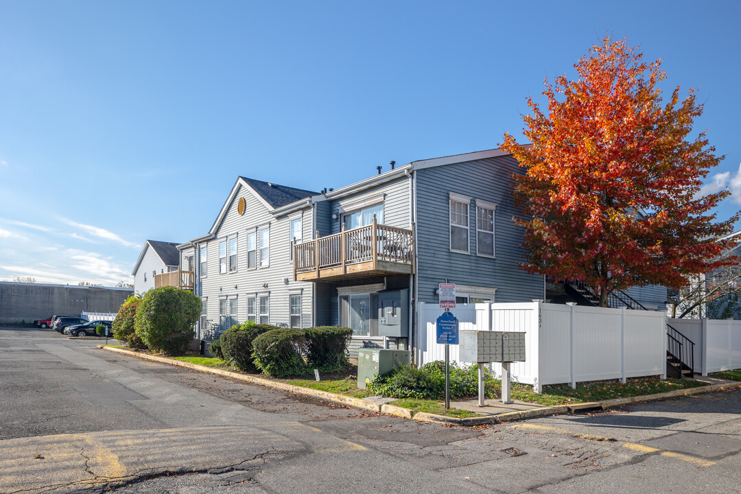
<path fill-rule="evenodd" d="M 668 319 L 694 345 L 694 371 L 702 375 L 741 369 L 741 321 Z"/>

